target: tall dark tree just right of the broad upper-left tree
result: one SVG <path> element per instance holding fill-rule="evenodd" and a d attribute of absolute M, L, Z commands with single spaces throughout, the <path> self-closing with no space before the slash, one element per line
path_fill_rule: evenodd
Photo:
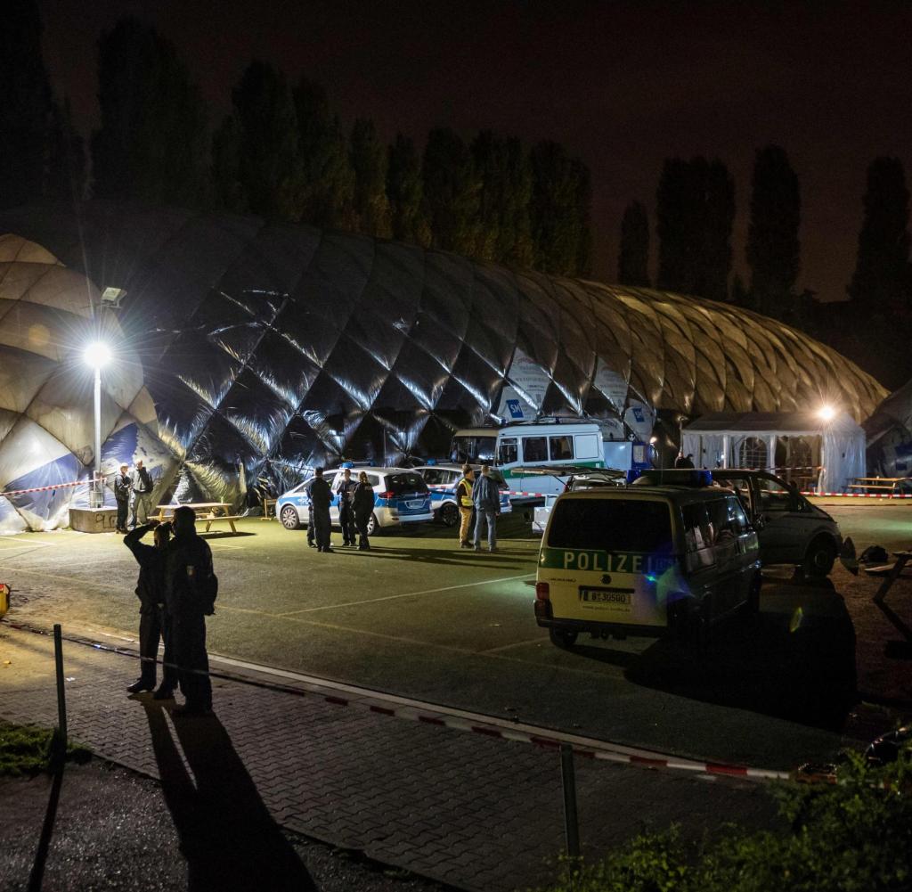
<path fill-rule="evenodd" d="M 213 144 L 213 149 L 218 147 L 217 163 L 221 165 L 216 171 L 219 192 L 230 201 L 229 171 L 235 150 L 231 140 L 236 140 L 237 181 L 244 194 L 241 203 L 264 217 L 296 222 L 303 187 L 295 106 L 285 75 L 266 62 L 251 62 L 233 88 L 232 100 L 235 123 L 224 122 Z"/>

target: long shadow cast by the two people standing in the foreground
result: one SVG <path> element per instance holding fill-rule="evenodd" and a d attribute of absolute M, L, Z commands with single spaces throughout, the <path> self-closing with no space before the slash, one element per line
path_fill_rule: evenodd
<path fill-rule="evenodd" d="M 161 790 L 187 861 L 189 892 L 316 890 L 222 722 L 214 715 L 175 719 L 185 765 L 159 703 L 144 698 L 142 705 Z"/>

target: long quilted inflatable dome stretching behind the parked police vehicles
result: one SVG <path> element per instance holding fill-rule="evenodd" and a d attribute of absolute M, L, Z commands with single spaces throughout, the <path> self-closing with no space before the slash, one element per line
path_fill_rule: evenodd
<path fill-rule="evenodd" d="M 733 306 L 253 217 L 89 202 L 80 223 L 0 213 L 0 233 L 127 290 L 119 320 L 189 495 L 439 452 L 454 425 L 490 420 L 519 366 L 544 375 L 530 397 L 544 414 L 617 417 L 637 398 L 688 416 L 828 403 L 863 420 L 886 396 L 834 350 Z"/>

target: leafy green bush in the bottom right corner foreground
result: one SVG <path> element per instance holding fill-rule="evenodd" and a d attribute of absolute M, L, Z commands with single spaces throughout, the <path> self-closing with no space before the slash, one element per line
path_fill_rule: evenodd
<path fill-rule="evenodd" d="M 564 860 L 547 892 L 899 892 L 912 888 L 912 754 L 850 753 L 839 783 L 772 789 L 784 833 L 725 827 L 685 843 L 641 835 L 595 865 Z"/>

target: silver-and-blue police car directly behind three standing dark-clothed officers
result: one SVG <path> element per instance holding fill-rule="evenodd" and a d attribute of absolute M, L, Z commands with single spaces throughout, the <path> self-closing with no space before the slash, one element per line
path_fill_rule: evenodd
<path fill-rule="evenodd" d="M 323 479 L 333 491 L 329 506 L 329 520 L 339 525 L 339 495 L 336 488 L 342 480 L 342 468 L 323 473 Z M 374 468 L 352 466 L 352 480 L 358 481 L 362 471 L 368 475 L 368 482 L 374 488 L 374 513 L 368 521 L 368 535 L 378 530 L 399 524 L 414 524 L 433 520 L 430 506 L 430 492 L 420 473 L 409 468 Z M 297 530 L 307 523 L 307 509 L 310 500 L 307 487 L 314 479 L 309 475 L 294 489 L 279 496 L 275 503 L 275 516 L 286 530 Z"/>

